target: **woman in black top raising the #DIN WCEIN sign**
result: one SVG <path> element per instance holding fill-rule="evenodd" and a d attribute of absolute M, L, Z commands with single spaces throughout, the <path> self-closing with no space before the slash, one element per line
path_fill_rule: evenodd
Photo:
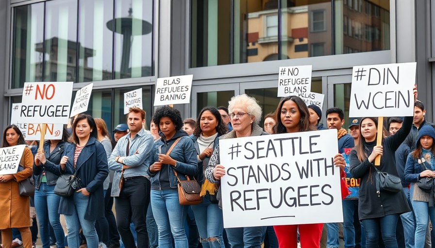
<path fill-rule="evenodd" d="M 416 97 L 417 89 L 414 88 L 414 99 Z M 377 189 L 377 170 L 398 175 L 395 152 L 408 136 L 412 121 L 412 116 L 405 117 L 402 128 L 395 135 L 383 138 L 382 145 L 376 145 L 377 118 L 364 117 L 359 124 L 361 137 L 351 151 L 350 169 L 354 178 L 361 178 L 358 214 L 366 230 L 367 248 L 378 247 L 379 227 L 385 247 L 398 247 L 397 220 L 401 214 L 409 212 L 410 209 L 402 190 L 393 192 Z M 381 163 L 375 167 L 373 162 L 378 155 L 382 155 Z"/>

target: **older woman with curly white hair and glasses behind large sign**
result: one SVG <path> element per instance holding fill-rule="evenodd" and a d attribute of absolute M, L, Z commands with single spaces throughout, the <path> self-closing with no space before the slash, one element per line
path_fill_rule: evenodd
<path fill-rule="evenodd" d="M 261 107 L 253 97 L 246 94 L 237 95 L 231 98 L 228 103 L 233 131 L 222 136 L 221 139 L 268 134 L 258 126 L 261 118 Z M 224 166 L 219 163 L 219 147 L 217 146 L 205 171 L 205 176 L 211 183 L 218 184 L 220 178 L 225 175 Z M 259 248 L 261 247 L 266 227 L 226 228 L 225 231 L 232 248 Z"/>

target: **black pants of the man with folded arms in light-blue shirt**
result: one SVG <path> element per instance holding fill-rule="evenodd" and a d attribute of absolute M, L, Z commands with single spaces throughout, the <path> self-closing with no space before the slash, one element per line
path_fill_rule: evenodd
<path fill-rule="evenodd" d="M 115 200 L 117 228 L 125 248 L 134 248 L 133 234 L 130 222 L 133 220 L 137 235 L 137 247 L 148 248 L 147 208 L 150 203 L 151 182 L 137 176 L 124 181 L 119 197 Z"/>

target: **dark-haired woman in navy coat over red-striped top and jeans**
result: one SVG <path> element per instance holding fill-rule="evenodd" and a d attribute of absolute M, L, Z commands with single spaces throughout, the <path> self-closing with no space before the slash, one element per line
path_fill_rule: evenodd
<path fill-rule="evenodd" d="M 77 173 L 80 188 L 70 197 L 62 197 L 59 213 L 65 215 L 68 227 L 68 246 L 80 247 L 80 226 L 87 247 L 98 248 L 95 221 L 104 217 L 103 182 L 109 174 L 107 155 L 97 140 L 94 118 L 79 114 L 72 124 L 72 145 L 68 145 L 60 160 L 60 171 Z"/>

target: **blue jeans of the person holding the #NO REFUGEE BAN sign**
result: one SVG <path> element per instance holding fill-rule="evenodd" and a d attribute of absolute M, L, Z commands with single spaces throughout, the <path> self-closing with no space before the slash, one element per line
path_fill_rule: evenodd
<path fill-rule="evenodd" d="M 39 189 L 35 189 L 35 210 L 38 216 L 39 235 L 43 248 L 50 247 L 50 228 L 53 228 L 54 236 L 56 237 L 57 247 L 65 247 L 65 233 L 60 224 L 59 202 L 60 196 L 54 194 L 54 185 L 41 183 Z"/>

